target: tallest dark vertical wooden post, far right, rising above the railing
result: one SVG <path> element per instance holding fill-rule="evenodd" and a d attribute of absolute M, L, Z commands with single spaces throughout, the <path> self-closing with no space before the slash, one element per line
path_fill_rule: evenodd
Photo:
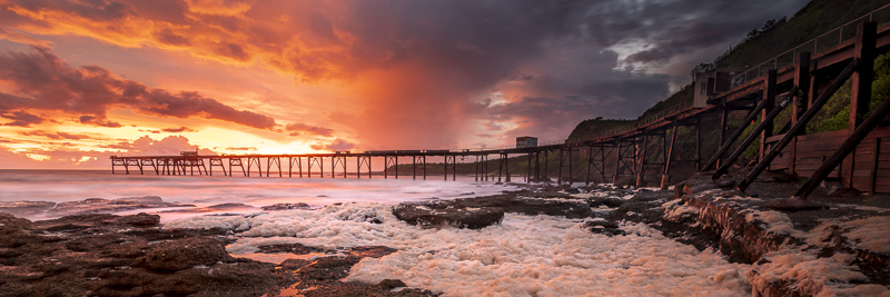
<path fill-rule="evenodd" d="M 878 36 L 877 22 L 861 22 L 856 29 L 856 48 L 853 57 L 859 58 L 859 67 L 851 78 L 850 90 L 850 122 L 847 125 L 848 135 L 862 125 L 869 113 L 871 102 L 871 82 L 874 80 L 874 46 Z M 856 154 L 850 155 L 841 167 L 841 182 L 851 187 L 853 179 L 853 164 Z"/>

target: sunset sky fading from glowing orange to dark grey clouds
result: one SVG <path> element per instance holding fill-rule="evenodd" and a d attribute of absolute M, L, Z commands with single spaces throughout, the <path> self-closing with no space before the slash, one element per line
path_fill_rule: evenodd
<path fill-rule="evenodd" d="M 0 0 L 0 168 L 560 141 L 805 3 Z"/>

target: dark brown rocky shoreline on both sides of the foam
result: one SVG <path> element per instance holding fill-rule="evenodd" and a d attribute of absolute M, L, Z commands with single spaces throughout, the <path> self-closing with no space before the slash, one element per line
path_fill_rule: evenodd
<path fill-rule="evenodd" d="M 888 284 L 886 283 L 890 279 L 887 277 L 890 275 L 887 268 L 881 270 L 879 265 L 882 261 L 886 263 L 887 253 L 869 251 L 857 246 L 856 240 L 847 237 L 847 234 L 854 232 L 856 228 L 838 229 L 834 227 L 832 229 L 831 227 L 847 226 L 844 224 L 856 219 L 884 218 L 888 212 L 882 212 L 884 211 L 882 210 L 883 208 L 878 208 L 878 210 L 857 210 L 856 208 L 847 209 L 847 209 L 844 214 L 857 212 L 860 215 L 859 217 L 852 216 L 847 221 L 839 220 L 833 225 L 819 225 L 821 226 L 819 227 L 809 226 L 812 224 L 805 222 L 809 219 L 808 215 L 805 215 L 807 211 L 813 210 L 798 210 L 788 212 L 791 216 L 785 215 L 782 217 L 774 214 L 781 211 L 775 211 L 765 206 L 769 197 L 743 196 L 744 194 L 733 191 L 730 188 L 721 188 L 720 185 L 701 178 L 693 178 L 681 184 L 674 191 L 654 191 L 602 185 L 575 188 L 547 184 L 513 185 L 521 187 L 521 189 L 485 197 L 403 202 L 394 206 L 393 212 L 400 211 L 402 214 L 396 214 L 396 217 L 403 221 L 432 229 L 459 227 L 483 229 L 493 224 L 500 224 L 504 218 L 504 214 L 577 218 L 583 219 L 586 226 L 584 229 L 590 236 L 594 237 L 600 235 L 607 237 L 627 236 L 627 230 L 630 229 L 622 225 L 626 226 L 629 222 L 643 224 L 664 234 L 666 238 L 694 246 L 700 251 L 714 250 L 722 254 L 731 263 L 753 265 L 744 277 L 751 283 L 753 289 L 763 296 L 781 296 L 782 294 L 808 295 L 822 290 L 834 293 L 880 293 L 881 288 L 887 290 Z M 762 184 L 759 191 L 778 191 L 773 188 L 783 186 L 784 184 Z M 591 189 L 596 191 L 590 194 Z M 586 208 L 578 206 L 585 206 Z M 281 209 L 299 209 L 299 207 L 284 206 Z M 831 207 L 838 208 L 833 205 Z M 322 211 L 322 209 L 308 211 Z M 413 210 L 414 214 L 405 211 L 406 209 Z M 444 209 L 454 211 L 442 211 Z M 270 210 L 270 212 L 276 212 L 276 210 Z M 775 220 L 756 214 L 778 216 L 780 219 Z M 818 212 L 815 216 L 822 216 L 822 214 Z M 436 296 L 438 294 L 423 288 L 404 288 L 406 286 L 405 283 L 397 279 L 383 279 L 379 284 L 342 281 L 340 279 L 349 275 L 330 275 L 328 273 L 330 267 L 342 267 L 334 269 L 348 270 L 356 264 L 362 263 L 363 258 L 377 259 L 389 255 L 387 253 L 392 253 L 392 249 L 386 247 L 356 246 L 348 250 L 330 250 L 294 244 L 289 246 L 270 245 L 266 246 L 267 251 L 270 250 L 269 253 L 288 253 L 297 256 L 280 264 L 269 264 L 246 258 L 233 258 L 233 255 L 229 254 L 230 251 L 226 251 L 225 246 L 243 240 L 243 237 L 238 235 L 246 230 L 225 228 L 170 229 L 162 227 L 159 224 L 159 217 L 152 215 L 81 215 L 31 222 L 0 214 L 0 220 L 3 222 L 0 226 L 0 228 L 3 228 L 3 236 L 0 237 L 2 239 L 0 242 L 4 242 L 0 246 L 0 260 L 7 267 L 0 269 L 0 274 L 3 274 L 3 279 L 8 279 L 4 280 L 6 283 L 0 284 L 0 287 L 19 288 L 19 290 L 11 290 L 12 293 L 33 293 L 32 289 L 41 286 L 52 287 L 52 284 L 43 284 L 46 283 L 43 280 L 56 278 L 65 279 L 61 283 L 57 281 L 59 284 L 80 286 L 92 293 L 102 291 L 103 288 L 132 286 L 129 290 L 120 291 L 115 289 L 113 291 L 107 291 L 109 294 L 134 293 L 137 288 L 145 293 L 147 287 L 158 293 L 164 293 L 165 288 L 170 290 L 186 289 L 182 286 L 196 289 L 195 293 L 239 289 L 229 288 L 225 285 L 220 285 L 221 287 L 218 288 L 200 285 L 204 281 L 216 279 L 212 277 L 208 279 L 209 276 L 201 274 L 201 271 L 217 269 L 230 273 L 229 277 L 238 276 L 235 278 L 243 278 L 247 276 L 246 279 L 251 279 L 249 284 L 257 285 L 251 287 L 251 290 L 243 290 L 241 293 L 254 296 L 264 294 L 306 294 L 307 291 L 312 293 L 307 296 L 316 293 L 320 294 L 322 291 L 327 293 L 325 296 L 373 295 L 392 291 L 402 293 L 403 296 Z M 800 226 L 795 226 L 797 221 L 803 221 L 803 225 L 798 224 Z M 373 218 L 367 222 L 376 224 Z M 791 226 L 789 227 L 788 225 Z M 803 228 L 804 225 L 807 226 L 805 228 Z M 777 226 L 782 228 L 777 229 Z M 827 229 L 834 230 L 829 235 L 829 241 L 827 241 L 829 244 L 834 242 L 833 246 L 825 244 L 820 247 L 820 241 L 818 240 L 801 241 L 794 239 L 804 231 L 815 232 L 821 236 L 823 230 Z M 100 234 L 105 235 L 100 236 Z M 41 239 L 47 235 L 51 235 L 52 238 L 63 239 L 61 241 L 52 241 L 58 239 L 50 241 Z M 733 239 L 736 237 L 742 239 Z M 818 236 L 809 237 L 820 238 Z M 762 241 L 760 238 L 768 238 L 768 240 Z M 129 244 L 121 246 L 120 242 Z M 155 247 L 160 247 L 161 245 L 151 242 L 167 242 L 162 245 L 162 250 L 165 251 L 155 249 Z M 801 245 L 801 242 L 809 244 Z M 85 249 L 80 247 L 83 245 L 91 248 Z M 73 249 L 71 248 L 72 246 Z M 197 249 L 186 248 L 187 246 L 192 246 Z M 221 253 L 219 253 L 220 248 Z M 47 249 L 55 250 L 53 253 L 58 253 L 58 255 L 53 256 L 53 258 L 61 263 L 56 266 L 46 266 L 41 264 L 42 261 L 29 256 L 31 255 L 30 253 L 41 249 L 44 251 Z M 97 253 L 92 249 L 99 251 Z M 128 251 L 122 253 L 121 250 Z M 151 258 L 150 255 L 170 253 L 170 250 L 177 250 L 176 254 L 198 255 L 196 258 L 204 258 L 200 255 L 207 253 L 216 256 L 210 257 L 214 260 L 212 263 L 207 260 L 201 261 L 201 264 L 190 264 L 188 267 L 175 267 L 177 268 L 176 270 L 164 270 L 168 268 L 160 269 L 156 266 L 162 266 L 165 263 L 191 263 L 194 259 L 160 259 L 154 264 L 156 266 L 147 264 L 148 258 Z M 364 253 L 367 250 L 376 251 Z M 798 258 L 803 257 L 810 260 L 798 264 L 783 263 L 784 266 L 777 264 L 775 260 L 770 260 L 787 258 L 788 256 L 783 256 L 784 254 L 778 254 L 787 253 L 782 250 L 795 250 L 793 255 L 801 255 L 797 256 Z M 833 250 L 833 253 L 824 253 L 824 250 Z M 848 254 L 856 256 L 852 260 L 848 259 L 849 257 L 837 256 Z M 72 259 L 71 257 L 75 257 L 75 255 L 80 259 Z M 83 260 L 87 255 L 91 255 L 93 258 Z M 301 257 L 299 255 L 309 255 L 312 257 L 299 258 Z M 775 271 L 788 271 L 794 269 L 794 265 L 803 266 L 808 264 L 834 265 L 833 267 L 840 267 L 842 268 L 841 270 L 846 269 L 844 271 L 850 271 L 848 275 L 853 275 L 854 277 L 840 280 L 822 279 L 818 277 L 818 274 L 810 275 L 809 278 L 777 279 L 772 277 Z M 59 265 L 63 268 L 57 267 Z M 28 268 L 22 268 L 22 266 Z M 118 267 L 123 266 L 131 268 L 118 269 Z M 861 276 L 857 275 L 857 273 L 861 274 Z M 175 277 L 182 277 L 181 275 L 188 275 L 188 280 L 180 278 L 178 280 L 180 283 L 177 284 L 182 284 L 181 286 L 170 287 L 168 283 L 177 279 Z M 807 275 L 801 274 L 801 276 Z M 122 285 L 120 283 L 123 279 L 134 277 L 147 279 L 147 283 L 140 283 L 141 285 L 129 283 L 129 285 Z M 309 281 L 309 279 L 315 280 Z M 245 285 L 243 283 L 244 279 L 230 279 L 230 281 Z M 159 284 L 168 285 L 165 287 Z M 801 284 L 807 284 L 807 286 Z M 316 289 L 305 290 L 312 287 Z M 322 289 L 319 290 L 318 288 Z M 338 294 L 334 294 L 335 290 Z"/>

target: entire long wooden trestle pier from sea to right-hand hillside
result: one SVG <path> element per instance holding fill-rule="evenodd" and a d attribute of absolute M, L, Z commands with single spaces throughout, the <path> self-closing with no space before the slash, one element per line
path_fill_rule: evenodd
<path fill-rule="evenodd" d="M 356 178 L 362 178 L 363 170 L 372 178 L 372 159 L 384 160 L 385 168 L 395 168 L 394 178 L 398 178 L 398 158 L 411 158 L 413 179 L 419 176 L 426 179 L 427 157 L 442 157 L 444 178 L 456 179 L 457 158 L 467 157 L 475 162 L 475 180 L 487 181 L 490 178 L 488 157 L 498 156 L 497 181 L 511 181 L 510 157 L 525 156 L 525 181 L 550 180 L 548 157 L 558 154 L 556 182 L 572 182 L 575 158 L 586 158 L 585 184 L 635 178 L 637 186 L 645 184 L 650 176 L 660 176 L 662 187 L 671 181 L 672 166 L 678 162 L 692 162 L 699 171 L 712 170 L 714 178 L 724 175 L 739 159 L 741 154 L 756 141 L 758 156 L 753 170 L 748 172 L 740 189 L 745 189 L 763 170 L 785 170 L 810 176 L 798 195 L 805 197 L 813 185 L 827 177 L 839 178 L 844 186 L 856 187 L 870 192 L 890 192 L 890 128 L 878 128 L 878 122 L 890 113 L 890 98 L 873 115 L 868 115 L 872 67 L 878 55 L 890 49 L 890 24 L 878 28 L 874 22 L 860 22 L 853 40 L 840 42 L 821 52 L 795 52 L 794 62 L 780 69 L 772 69 L 759 78 L 749 80 L 729 91 L 711 96 L 706 108 L 686 107 L 661 118 L 647 121 L 635 129 L 622 130 L 595 139 L 570 139 L 564 143 L 490 150 L 383 150 L 335 154 L 305 155 L 222 155 L 198 156 L 111 156 L 111 170 L 122 167 L 127 174 L 130 168 L 139 169 L 139 174 L 154 170 L 156 175 L 214 175 L 214 168 L 221 169 L 224 176 L 239 172 L 250 176 L 253 170 L 263 176 L 265 160 L 266 177 L 277 172 L 284 177 L 283 161 L 287 162 L 287 176 L 324 177 L 325 159 L 330 160 L 330 177 L 342 174 L 346 177 L 346 161 L 356 160 Z M 840 88 L 848 78 L 852 78 L 852 93 L 849 128 L 821 135 L 805 135 L 803 127 L 824 106 L 825 101 Z M 780 99 L 780 100 L 777 100 Z M 778 102 L 779 101 L 779 102 Z M 775 126 L 774 119 L 782 109 L 791 108 L 791 120 Z M 748 110 L 748 117 L 739 127 L 729 127 L 729 112 Z M 702 118 L 716 115 L 720 117 L 718 150 L 702 164 Z M 754 132 L 736 141 L 752 122 L 760 119 Z M 778 130 L 774 127 L 782 127 Z M 680 133 L 679 131 L 682 131 Z M 729 135 L 728 135 L 729 133 Z M 694 156 L 682 159 L 676 154 L 678 137 L 694 137 Z M 759 140 L 759 141 L 758 141 Z M 864 141 L 864 142 L 863 142 Z M 815 145 L 818 143 L 818 145 Z M 654 148 L 654 149 L 653 149 Z M 731 152 L 731 154 L 730 154 Z M 729 155 L 728 155 L 729 154 Z M 543 156 L 542 156 L 543 155 Z M 689 156 L 689 154 L 686 154 Z M 543 157 L 543 160 L 542 160 Z M 515 158 L 514 160 L 521 160 Z M 245 167 L 245 161 L 247 166 Z M 606 164 L 614 166 L 614 171 L 606 172 Z M 543 170 L 542 170 L 543 164 Z M 228 166 L 227 166 L 228 165 Z M 228 168 L 227 168 L 228 167 Z M 237 170 L 240 168 L 240 170 Z M 565 170 L 564 170 L 565 169 Z M 652 175 L 654 172 L 654 175 Z M 389 177 L 387 170 L 384 178 Z M 491 176 L 494 178 L 493 176 Z M 684 178 L 684 177 L 681 177 Z M 578 178 L 577 181 L 581 181 Z"/>

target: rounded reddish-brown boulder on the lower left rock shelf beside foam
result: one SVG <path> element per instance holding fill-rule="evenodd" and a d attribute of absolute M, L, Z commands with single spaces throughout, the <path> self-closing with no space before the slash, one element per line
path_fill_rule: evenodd
<path fill-rule="evenodd" d="M 152 246 L 134 266 L 157 271 L 175 271 L 218 261 L 231 263 L 222 242 L 212 238 L 190 237 Z"/>

